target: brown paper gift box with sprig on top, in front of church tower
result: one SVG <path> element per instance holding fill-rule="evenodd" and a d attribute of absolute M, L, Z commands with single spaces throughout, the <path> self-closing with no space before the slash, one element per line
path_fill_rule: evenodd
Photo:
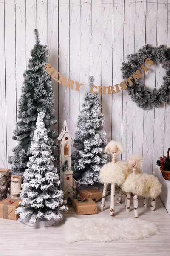
<path fill-rule="evenodd" d="M 73 208 L 78 215 L 97 214 L 97 204 L 91 198 L 88 198 L 87 202 L 73 199 Z"/>

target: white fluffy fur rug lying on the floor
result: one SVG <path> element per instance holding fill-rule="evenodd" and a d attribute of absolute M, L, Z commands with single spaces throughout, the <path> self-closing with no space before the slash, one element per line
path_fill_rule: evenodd
<path fill-rule="evenodd" d="M 144 239 L 157 233 L 157 227 L 150 221 L 136 218 L 68 218 L 65 222 L 65 241 L 91 240 L 111 242 L 120 239 Z"/>

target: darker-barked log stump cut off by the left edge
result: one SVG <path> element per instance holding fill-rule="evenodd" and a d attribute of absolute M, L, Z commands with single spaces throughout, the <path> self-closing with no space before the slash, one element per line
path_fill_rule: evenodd
<path fill-rule="evenodd" d="M 7 198 L 9 183 L 9 169 L 0 169 L 0 201 Z"/>

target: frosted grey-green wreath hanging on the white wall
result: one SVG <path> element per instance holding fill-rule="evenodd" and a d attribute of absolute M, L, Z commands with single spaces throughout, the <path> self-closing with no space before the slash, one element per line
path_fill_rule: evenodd
<path fill-rule="evenodd" d="M 166 49 L 164 45 L 152 47 L 147 44 L 139 49 L 138 53 L 128 55 L 128 61 L 122 63 L 122 78 L 126 80 L 133 73 L 136 73 L 136 70 L 141 70 L 141 64 L 144 64 L 147 58 L 162 64 L 166 74 L 163 77 L 164 82 L 159 89 L 145 87 L 140 79 L 136 82 L 133 81 L 134 84 L 132 86 L 127 84 L 126 90 L 132 101 L 143 109 L 159 107 L 163 103 L 168 103 L 170 99 L 170 48 Z"/>

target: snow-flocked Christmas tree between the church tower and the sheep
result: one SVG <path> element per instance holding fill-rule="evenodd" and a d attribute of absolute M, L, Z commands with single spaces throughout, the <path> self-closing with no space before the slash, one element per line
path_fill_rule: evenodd
<path fill-rule="evenodd" d="M 94 77 L 90 76 L 89 86 L 92 85 Z M 77 151 L 72 154 L 74 176 L 80 185 L 92 185 L 99 183 L 100 169 L 107 162 L 107 155 L 103 153 L 107 140 L 102 131 L 105 117 L 99 114 L 101 102 L 96 93 L 85 93 L 82 107 L 74 140 Z"/>

